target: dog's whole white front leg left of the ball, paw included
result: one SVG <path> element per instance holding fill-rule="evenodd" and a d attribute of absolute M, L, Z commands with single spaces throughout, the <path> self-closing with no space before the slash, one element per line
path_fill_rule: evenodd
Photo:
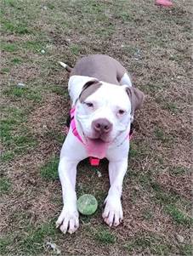
<path fill-rule="evenodd" d="M 60 226 L 63 233 L 73 233 L 79 226 L 77 212 L 77 194 L 75 191 L 77 163 L 62 157 L 59 163 L 59 176 L 62 185 L 62 197 L 64 206 L 60 213 L 56 226 Z"/>

